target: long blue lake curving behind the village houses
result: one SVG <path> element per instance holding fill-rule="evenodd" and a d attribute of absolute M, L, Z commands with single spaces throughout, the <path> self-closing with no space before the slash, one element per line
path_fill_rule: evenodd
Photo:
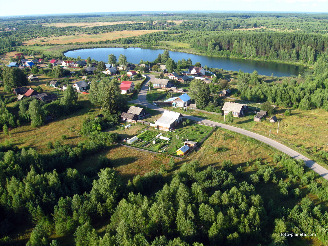
<path fill-rule="evenodd" d="M 164 50 L 160 49 L 142 49 L 142 48 L 95 48 L 95 49 L 83 49 L 68 51 L 65 53 L 67 57 L 76 58 L 80 56 L 82 59 L 87 59 L 89 56 L 91 59 L 97 61 L 108 62 L 108 55 L 114 54 L 118 59 L 120 54 L 124 54 L 127 57 L 128 62 L 139 64 L 140 60 L 154 61 L 159 53 L 163 53 Z M 244 72 L 252 73 L 254 70 L 261 75 L 271 76 L 297 76 L 299 73 L 305 72 L 306 67 L 296 66 L 290 64 L 265 62 L 265 61 L 253 61 L 246 59 L 233 59 L 223 57 L 211 57 L 203 55 L 194 55 L 184 52 L 169 51 L 170 57 L 177 62 L 181 59 L 191 58 L 193 64 L 200 62 L 204 67 L 207 65 L 211 68 L 219 68 L 228 71 L 239 71 L 241 69 Z"/>

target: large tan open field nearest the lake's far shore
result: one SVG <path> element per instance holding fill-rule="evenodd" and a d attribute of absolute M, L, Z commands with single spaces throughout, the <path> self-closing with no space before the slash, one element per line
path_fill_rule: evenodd
<path fill-rule="evenodd" d="M 132 36 L 139 36 L 146 33 L 152 33 L 161 30 L 136 30 L 136 31 L 111 31 L 106 33 L 98 33 L 98 34 L 85 34 L 78 33 L 75 35 L 63 35 L 63 36 L 54 36 L 51 38 L 36 38 L 31 39 L 23 45 L 33 45 L 33 44 L 67 44 L 67 43 L 75 43 L 75 42 L 97 42 L 97 41 L 105 41 L 105 40 L 114 40 L 118 38 L 126 38 Z"/>

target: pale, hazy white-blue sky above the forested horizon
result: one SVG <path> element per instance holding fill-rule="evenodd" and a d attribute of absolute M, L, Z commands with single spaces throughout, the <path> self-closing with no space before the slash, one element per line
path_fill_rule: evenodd
<path fill-rule="evenodd" d="M 6 0 L 0 2 L 0 16 L 173 10 L 328 12 L 328 0 L 125 0 L 124 2 L 78 0 L 41 1 L 32 4 L 27 4 L 26 0 L 16 0 L 14 4 Z"/>

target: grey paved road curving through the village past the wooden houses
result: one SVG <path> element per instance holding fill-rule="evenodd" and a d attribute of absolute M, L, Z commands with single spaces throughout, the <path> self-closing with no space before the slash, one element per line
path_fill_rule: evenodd
<path fill-rule="evenodd" d="M 156 75 L 147 75 L 147 77 L 150 78 L 150 80 L 148 81 L 154 81 Z M 139 95 L 138 95 L 138 99 L 130 101 L 132 103 L 135 104 L 139 104 L 142 106 L 147 106 L 147 108 L 150 109 L 154 109 L 154 110 L 158 110 L 158 111 L 165 111 L 165 109 L 159 108 L 154 106 L 153 104 L 150 104 L 147 102 L 146 100 L 146 94 L 147 94 L 147 90 L 148 90 L 148 82 L 141 88 Z M 203 122 L 203 123 L 207 123 L 207 124 L 212 124 L 218 127 L 222 127 L 223 129 L 227 129 L 230 131 L 234 131 L 236 133 L 240 133 L 249 137 L 252 137 L 260 142 L 266 143 L 267 145 L 270 145 L 271 147 L 285 153 L 288 154 L 289 156 L 295 158 L 295 159 L 303 159 L 305 161 L 305 164 L 307 167 L 311 168 L 313 171 L 315 171 L 316 173 L 318 173 L 320 176 L 322 176 L 323 178 L 328 180 L 328 170 L 321 167 L 319 164 L 315 163 L 314 161 L 310 160 L 309 158 L 305 157 L 304 155 L 299 154 L 298 152 L 292 150 L 291 148 L 288 148 L 287 146 L 278 143 L 275 140 L 272 140 L 268 137 L 262 136 L 260 134 L 257 133 L 252 133 L 250 131 L 246 131 L 244 129 L 240 129 L 234 126 L 229 126 L 229 125 L 225 125 L 222 123 L 218 123 L 212 120 L 206 120 L 206 119 L 202 119 L 199 117 L 195 117 L 195 116 L 191 116 L 188 114 L 183 114 L 183 116 L 185 116 L 185 118 L 187 119 L 191 119 L 194 121 L 198 121 L 198 122 Z"/>

